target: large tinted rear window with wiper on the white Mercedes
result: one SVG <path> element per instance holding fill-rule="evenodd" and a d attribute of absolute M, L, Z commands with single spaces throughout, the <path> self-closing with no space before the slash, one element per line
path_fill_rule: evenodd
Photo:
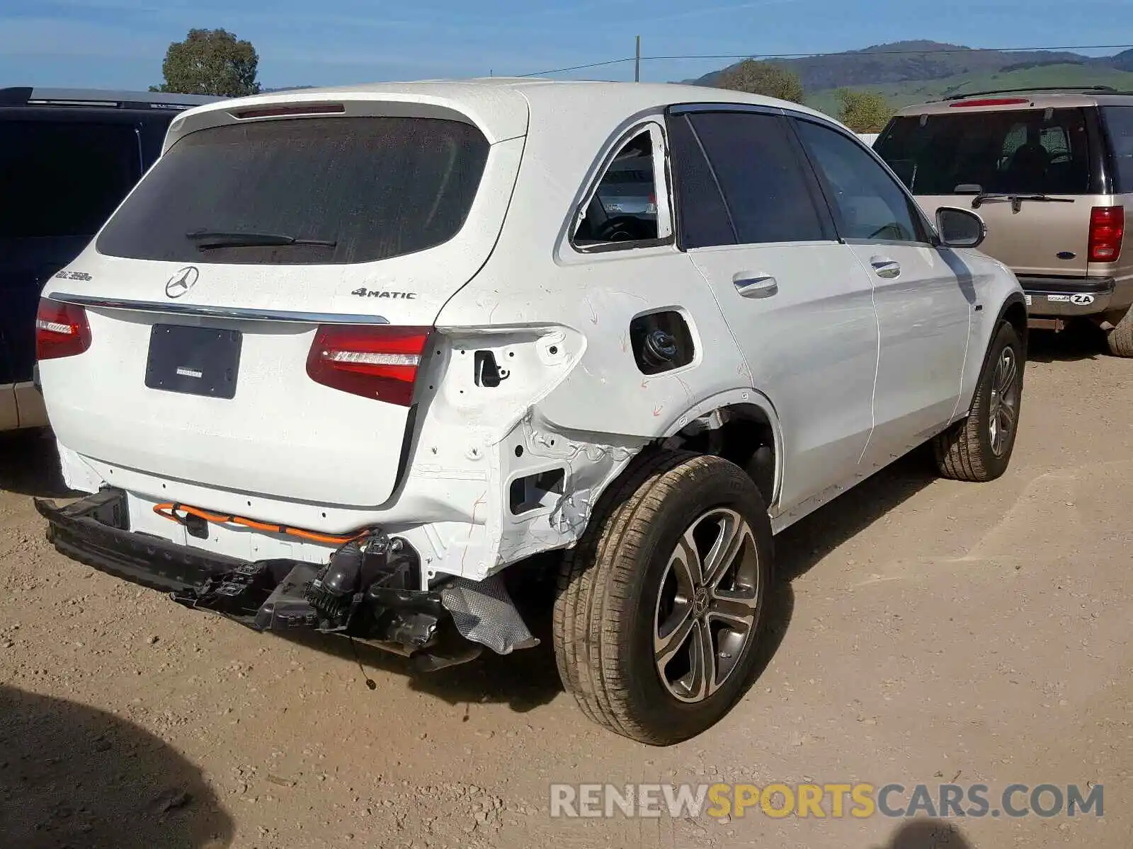
<path fill-rule="evenodd" d="M 157 161 L 97 249 L 134 259 L 276 265 L 412 254 L 459 232 L 487 154 L 475 127 L 432 118 L 199 130 Z"/>

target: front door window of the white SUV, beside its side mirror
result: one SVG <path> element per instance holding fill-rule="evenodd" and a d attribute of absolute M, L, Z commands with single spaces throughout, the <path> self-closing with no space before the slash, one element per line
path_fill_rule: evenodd
<path fill-rule="evenodd" d="M 795 126 L 826 183 L 844 239 L 928 240 L 912 200 L 860 144 L 812 121 Z"/>

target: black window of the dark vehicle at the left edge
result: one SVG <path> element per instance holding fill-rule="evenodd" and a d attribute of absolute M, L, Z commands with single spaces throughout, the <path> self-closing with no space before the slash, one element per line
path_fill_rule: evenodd
<path fill-rule="evenodd" d="M 140 175 L 133 125 L 0 121 L 0 239 L 90 238 Z"/>

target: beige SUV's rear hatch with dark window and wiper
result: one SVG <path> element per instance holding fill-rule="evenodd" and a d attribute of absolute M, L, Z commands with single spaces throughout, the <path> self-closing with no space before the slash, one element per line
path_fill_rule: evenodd
<path fill-rule="evenodd" d="M 1019 275 L 1084 277 L 1091 195 L 1101 195 L 1090 108 L 1025 109 L 1024 97 L 956 101 L 947 113 L 901 115 L 875 148 L 931 217 L 974 208 L 981 250 Z"/>

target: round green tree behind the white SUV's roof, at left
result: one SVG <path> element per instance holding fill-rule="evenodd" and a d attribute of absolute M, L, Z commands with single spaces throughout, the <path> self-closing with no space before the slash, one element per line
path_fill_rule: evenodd
<path fill-rule="evenodd" d="M 161 66 L 165 82 L 151 92 L 241 97 L 258 94 L 259 57 L 250 41 L 227 29 L 190 29 L 185 41 L 169 45 Z"/>

